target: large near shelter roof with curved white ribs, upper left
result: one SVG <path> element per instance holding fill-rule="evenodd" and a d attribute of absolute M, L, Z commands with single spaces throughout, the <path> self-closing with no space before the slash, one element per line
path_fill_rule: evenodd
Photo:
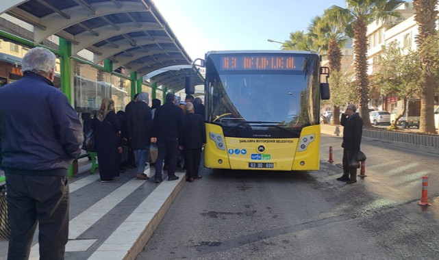
<path fill-rule="evenodd" d="M 60 36 L 72 42 L 73 55 L 87 49 L 95 54 L 93 62 L 112 60 L 115 67 L 124 66 L 127 73 L 137 72 L 138 77 L 192 62 L 150 0 L 1 2 L 0 14 L 10 14 L 34 26 L 36 44 L 51 35 Z M 153 77 L 151 80 L 155 81 Z M 168 82 L 162 77 L 160 81 Z M 179 84 L 166 88 L 182 89 Z"/>

